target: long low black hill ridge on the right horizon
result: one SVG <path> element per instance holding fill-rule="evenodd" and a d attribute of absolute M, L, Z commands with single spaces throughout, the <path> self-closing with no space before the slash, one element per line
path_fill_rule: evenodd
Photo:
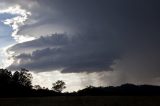
<path fill-rule="evenodd" d="M 123 84 L 117 87 L 87 87 L 83 90 L 79 90 L 75 95 L 82 96 L 109 96 L 109 95 L 122 95 L 122 96 L 160 96 L 160 86 L 152 85 L 134 85 Z"/>

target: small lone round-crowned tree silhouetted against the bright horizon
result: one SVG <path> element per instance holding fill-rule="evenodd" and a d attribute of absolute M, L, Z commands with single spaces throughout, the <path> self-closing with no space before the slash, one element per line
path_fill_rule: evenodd
<path fill-rule="evenodd" d="M 52 84 L 52 89 L 56 92 L 62 92 L 66 88 L 66 84 L 62 80 L 58 80 L 57 82 Z"/>

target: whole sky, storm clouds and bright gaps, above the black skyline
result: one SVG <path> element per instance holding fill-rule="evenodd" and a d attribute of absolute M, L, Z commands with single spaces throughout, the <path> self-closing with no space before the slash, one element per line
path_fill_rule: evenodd
<path fill-rule="evenodd" d="M 67 90 L 160 85 L 159 0 L 0 0 L 0 63 Z M 74 80 L 73 80 L 74 79 Z"/>

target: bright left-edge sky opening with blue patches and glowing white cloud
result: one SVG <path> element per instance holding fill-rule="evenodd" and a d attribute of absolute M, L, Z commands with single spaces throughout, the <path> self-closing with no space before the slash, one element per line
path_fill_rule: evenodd
<path fill-rule="evenodd" d="M 28 35 L 19 35 L 19 29 L 25 25 L 31 13 L 15 5 L 0 10 L 0 68 L 5 68 L 11 64 L 10 53 L 6 49 L 16 43 L 26 42 L 35 39 Z"/>

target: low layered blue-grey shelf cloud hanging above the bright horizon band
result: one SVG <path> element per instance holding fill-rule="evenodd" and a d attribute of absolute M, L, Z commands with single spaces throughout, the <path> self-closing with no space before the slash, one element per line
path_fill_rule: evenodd
<path fill-rule="evenodd" d="M 62 70 L 62 72 L 111 70 L 110 66 L 114 60 L 120 57 L 120 46 L 114 47 L 115 44 L 111 40 L 116 41 L 111 36 L 89 34 L 91 33 L 74 35 L 71 38 L 67 37 L 66 34 L 54 34 L 17 44 L 10 50 L 15 50 L 18 53 L 33 50 L 33 48 L 38 49 L 38 47 L 39 50 L 36 49 L 32 53 L 21 53 L 15 56 L 15 61 L 9 68 L 25 67 L 35 71 Z"/>

